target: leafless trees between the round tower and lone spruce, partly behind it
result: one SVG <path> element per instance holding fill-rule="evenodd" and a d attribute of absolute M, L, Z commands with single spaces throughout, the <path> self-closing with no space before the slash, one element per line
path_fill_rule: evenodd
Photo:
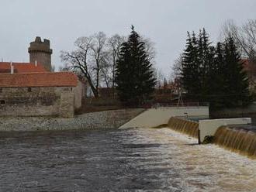
<path fill-rule="evenodd" d="M 92 93 L 99 97 L 99 87 L 112 87 L 114 95 L 116 60 L 126 37 L 114 35 L 106 37 L 103 32 L 92 36 L 79 37 L 74 51 L 61 51 L 65 70 L 73 70 L 78 77 L 88 81 Z M 154 43 L 144 39 L 150 60 L 155 57 Z M 62 69 L 63 70 L 63 69 Z"/>

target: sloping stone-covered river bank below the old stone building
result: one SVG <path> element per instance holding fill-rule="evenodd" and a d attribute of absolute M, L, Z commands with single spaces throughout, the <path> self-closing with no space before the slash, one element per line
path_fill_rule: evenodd
<path fill-rule="evenodd" d="M 142 111 L 143 108 L 100 111 L 76 115 L 74 118 L 2 117 L 0 131 L 117 129 Z"/>

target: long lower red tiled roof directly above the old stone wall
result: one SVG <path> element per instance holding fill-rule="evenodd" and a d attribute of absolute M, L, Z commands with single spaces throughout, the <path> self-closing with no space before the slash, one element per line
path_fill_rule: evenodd
<path fill-rule="evenodd" d="M 0 74 L 0 87 L 76 87 L 78 77 L 71 72 Z"/>

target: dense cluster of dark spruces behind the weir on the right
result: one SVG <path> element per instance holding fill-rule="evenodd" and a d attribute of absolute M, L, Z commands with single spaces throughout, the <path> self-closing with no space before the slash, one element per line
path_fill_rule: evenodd
<path fill-rule="evenodd" d="M 213 46 L 205 29 L 188 33 L 180 62 L 186 98 L 209 102 L 212 108 L 251 102 L 247 74 L 232 36 Z"/>

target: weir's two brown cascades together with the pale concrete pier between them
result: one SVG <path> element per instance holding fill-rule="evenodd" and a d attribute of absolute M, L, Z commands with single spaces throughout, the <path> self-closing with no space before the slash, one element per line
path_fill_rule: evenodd
<path fill-rule="evenodd" d="M 206 126 L 201 125 L 199 129 L 200 124 L 198 122 L 172 117 L 168 121 L 168 127 L 177 132 L 199 138 L 199 141 L 202 135 L 213 136 L 212 142 L 214 144 L 224 149 L 229 149 L 232 152 L 256 159 L 256 127 L 241 124 L 242 122 L 250 121 L 251 119 L 249 118 L 206 120 L 204 122 Z M 223 122 L 233 122 L 238 125 L 223 125 Z"/>

